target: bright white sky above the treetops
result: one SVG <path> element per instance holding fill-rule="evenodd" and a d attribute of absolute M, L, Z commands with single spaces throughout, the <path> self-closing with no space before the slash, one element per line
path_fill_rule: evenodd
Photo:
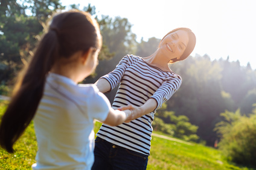
<path fill-rule="evenodd" d="M 125 17 L 132 32 L 147 41 L 162 38 L 174 28 L 190 28 L 197 37 L 191 53 L 211 60 L 229 56 L 229 61 L 250 62 L 256 69 L 256 1 L 255 0 L 60 0 L 62 5 L 90 3 L 97 16 Z"/>

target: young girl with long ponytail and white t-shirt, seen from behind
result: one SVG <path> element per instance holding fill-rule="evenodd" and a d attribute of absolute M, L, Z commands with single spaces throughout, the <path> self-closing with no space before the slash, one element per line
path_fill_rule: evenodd
<path fill-rule="evenodd" d="M 53 17 L 2 117 L 2 148 L 13 153 L 34 118 L 33 169 L 91 169 L 94 120 L 117 126 L 131 115 L 112 109 L 95 85 L 77 84 L 95 69 L 101 43 L 90 14 L 72 10 Z"/>

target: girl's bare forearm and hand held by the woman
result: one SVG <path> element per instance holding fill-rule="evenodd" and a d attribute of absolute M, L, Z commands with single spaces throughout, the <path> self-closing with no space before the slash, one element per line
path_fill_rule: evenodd
<path fill-rule="evenodd" d="M 124 121 L 126 121 L 127 123 L 133 120 L 130 117 L 132 117 L 132 111 L 130 110 L 118 111 L 111 108 L 106 120 L 103 121 L 103 123 L 108 124 L 110 126 L 118 126 L 118 124 L 121 124 Z"/>

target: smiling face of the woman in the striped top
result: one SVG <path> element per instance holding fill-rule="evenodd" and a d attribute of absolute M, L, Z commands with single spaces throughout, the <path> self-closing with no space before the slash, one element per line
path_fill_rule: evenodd
<path fill-rule="evenodd" d="M 162 53 L 166 54 L 170 60 L 173 58 L 179 59 L 184 53 L 188 41 L 188 33 L 184 30 L 178 30 L 168 34 L 161 41 L 159 50 L 162 50 Z"/>

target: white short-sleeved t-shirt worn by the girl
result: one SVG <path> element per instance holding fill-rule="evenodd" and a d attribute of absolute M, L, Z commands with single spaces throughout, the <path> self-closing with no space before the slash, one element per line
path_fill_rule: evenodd
<path fill-rule="evenodd" d="M 106 120 L 110 107 L 95 85 L 50 73 L 34 117 L 38 151 L 32 168 L 91 169 L 94 120 Z"/>

